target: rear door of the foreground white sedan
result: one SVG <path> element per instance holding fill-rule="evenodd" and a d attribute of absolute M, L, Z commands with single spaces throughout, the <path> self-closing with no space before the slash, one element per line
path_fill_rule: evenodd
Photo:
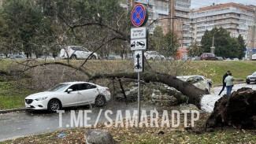
<path fill-rule="evenodd" d="M 91 83 L 82 83 L 80 84 L 80 100 L 81 104 L 87 105 L 91 104 L 95 101 L 96 96 L 98 95 L 98 90 L 96 85 L 93 85 Z"/>

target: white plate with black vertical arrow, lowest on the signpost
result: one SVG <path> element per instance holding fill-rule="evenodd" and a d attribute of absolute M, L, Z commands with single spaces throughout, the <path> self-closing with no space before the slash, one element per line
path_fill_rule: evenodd
<path fill-rule="evenodd" d="M 134 72 L 143 72 L 143 50 L 134 52 Z"/>

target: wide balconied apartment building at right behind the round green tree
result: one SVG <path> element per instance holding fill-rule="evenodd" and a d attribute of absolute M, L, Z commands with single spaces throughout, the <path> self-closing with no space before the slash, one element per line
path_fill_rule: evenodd
<path fill-rule="evenodd" d="M 236 3 L 226 3 L 193 9 L 190 13 L 191 21 L 184 24 L 184 46 L 191 42 L 201 41 L 206 30 L 225 28 L 232 37 L 243 35 L 247 42 L 248 28 L 254 23 L 254 6 L 243 6 Z"/>

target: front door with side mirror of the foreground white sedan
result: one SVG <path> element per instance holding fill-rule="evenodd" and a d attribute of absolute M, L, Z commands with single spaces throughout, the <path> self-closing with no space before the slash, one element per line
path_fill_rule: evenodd
<path fill-rule="evenodd" d="M 72 89 L 71 92 L 68 93 L 68 89 Z M 65 95 L 63 96 L 63 101 L 61 102 L 63 106 L 74 106 L 79 105 L 80 97 L 78 94 L 79 84 L 74 84 L 70 86 L 67 90 L 65 90 Z"/>

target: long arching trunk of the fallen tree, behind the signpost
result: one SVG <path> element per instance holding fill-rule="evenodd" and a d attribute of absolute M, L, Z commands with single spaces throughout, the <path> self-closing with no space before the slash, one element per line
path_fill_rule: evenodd
<path fill-rule="evenodd" d="M 112 74 L 98 74 L 92 76 L 91 79 L 100 79 L 100 78 L 130 78 L 138 79 L 138 74 L 135 72 L 118 72 Z M 209 94 L 206 90 L 201 90 L 192 85 L 191 83 L 184 82 L 180 79 L 177 79 L 175 76 L 169 76 L 166 74 L 154 73 L 154 72 L 143 72 L 140 73 L 140 78 L 146 82 L 158 82 L 165 83 L 169 87 L 174 87 L 176 90 L 179 90 L 182 94 L 187 95 L 188 102 L 197 105 L 198 108 L 201 108 L 200 102 L 203 94 Z"/>

